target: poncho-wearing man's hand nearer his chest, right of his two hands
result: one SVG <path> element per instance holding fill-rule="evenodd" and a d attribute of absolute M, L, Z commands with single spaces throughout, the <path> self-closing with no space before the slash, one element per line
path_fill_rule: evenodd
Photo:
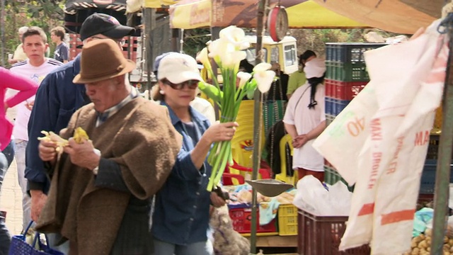
<path fill-rule="evenodd" d="M 78 144 L 74 138 L 69 138 L 69 146 L 64 147 L 64 152 L 71 157 L 71 163 L 86 169 L 93 170 L 99 166 L 101 157 L 96 154 L 91 140 L 84 140 Z"/>

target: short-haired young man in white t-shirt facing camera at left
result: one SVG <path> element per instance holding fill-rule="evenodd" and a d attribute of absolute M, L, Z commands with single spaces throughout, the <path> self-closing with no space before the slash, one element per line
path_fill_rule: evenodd
<path fill-rule="evenodd" d="M 40 84 L 42 79 L 56 69 L 62 62 L 45 57 L 45 51 L 49 47 L 47 45 L 47 35 L 44 30 L 38 27 L 30 27 L 23 33 L 23 52 L 28 59 L 23 62 L 18 62 L 11 67 L 11 72 L 19 74 L 23 77 L 33 79 Z M 23 193 L 23 229 L 27 227 L 31 221 L 31 200 L 27 193 L 27 180 L 25 179 L 25 147 L 28 142 L 28 119 L 30 118 L 31 108 L 35 96 L 28 98 L 27 101 L 16 106 L 16 122 L 13 128 L 14 142 L 16 143 L 16 164 L 18 171 L 18 182 Z"/>

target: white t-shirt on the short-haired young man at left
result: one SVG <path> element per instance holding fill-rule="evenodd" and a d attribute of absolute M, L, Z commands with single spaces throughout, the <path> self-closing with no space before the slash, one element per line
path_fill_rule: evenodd
<path fill-rule="evenodd" d="M 39 67 L 33 67 L 29 63 L 30 60 L 25 60 L 11 67 L 11 72 L 33 79 L 37 84 L 40 84 L 44 77 L 53 69 L 62 65 L 62 62 L 46 58 L 45 62 Z M 26 101 L 19 103 L 16 107 L 16 122 L 14 123 L 13 136 L 16 139 L 28 141 L 28 119 L 31 111 L 26 107 L 27 103 L 35 101 L 35 96 L 28 98 Z"/>

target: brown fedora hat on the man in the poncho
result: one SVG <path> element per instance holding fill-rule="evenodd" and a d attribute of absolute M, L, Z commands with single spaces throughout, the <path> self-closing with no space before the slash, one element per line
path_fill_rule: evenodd
<path fill-rule="evenodd" d="M 135 63 L 122 55 L 114 40 L 99 39 L 84 46 L 80 66 L 80 73 L 72 80 L 75 84 L 103 81 L 127 74 L 135 68 Z"/>

